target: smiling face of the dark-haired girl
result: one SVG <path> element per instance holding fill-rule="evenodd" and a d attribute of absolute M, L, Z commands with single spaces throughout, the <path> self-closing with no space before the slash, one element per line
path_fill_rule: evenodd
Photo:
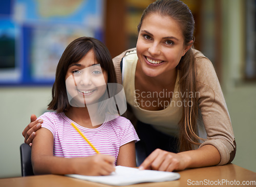
<path fill-rule="evenodd" d="M 108 73 L 103 71 L 90 50 L 78 63 L 71 64 L 66 74 L 66 88 L 72 106 L 84 107 L 98 102 L 106 91 Z"/>

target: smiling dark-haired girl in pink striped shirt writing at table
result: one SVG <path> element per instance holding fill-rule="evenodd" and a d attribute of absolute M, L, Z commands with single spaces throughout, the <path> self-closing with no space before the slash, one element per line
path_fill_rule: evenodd
<path fill-rule="evenodd" d="M 108 49 L 89 37 L 71 42 L 56 69 L 52 101 L 48 105 L 48 110 L 55 112 L 40 116 L 44 128 L 37 131 L 33 140 L 35 174 L 109 175 L 115 164 L 136 166 L 135 141 L 139 139 L 131 122 L 120 116 L 103 124 L 91 121 L 89 106 L 98 105 L 109 94 L 106 83 L 116 83 Z M 102 107 L 104 104 L 99 108 Z M 102 154 L 95 154 L 71 123 Z"/>

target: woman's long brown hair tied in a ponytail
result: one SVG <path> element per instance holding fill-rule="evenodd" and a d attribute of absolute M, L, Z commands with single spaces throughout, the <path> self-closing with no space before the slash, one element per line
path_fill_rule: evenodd
<path fill-rule="evenodd" d="M 162 16 L 169 16 L 176 20 L 182 29 L 184 37 L 184 45 L 190 45 L 191 41 L 194 42 L 194 29 L 195 21 L 194 17 L 187 7 L 181 1 L 178 0 L 159 0 L 149 5 L 143 12 L 141 20 L 138 25 L 138 32 L 140 32 L 141 25 L 144 18 L 153 13 L 158 13 Z M 183 103 L 187 103 L 183 106 L 182 118 L 179 122 L 179 143 L 180 150 L 191 150 L 198 145 L 199 141 L 202 140 L 196 135 L 197 131 L 197 118 L 198 118 L 198 98 L 196 97 L 197 85 L 196 85 L 196 67 L 195 67 L 195 54 L 192 49 L 186 52 L 181 58 L 178 66 L 180 80 L 180 92 L 183 93 Z M 193 98 L 189 98 L 189 94 L 185 92 L 194 93 Z M 188 103 L 192 103 L 189 104 Z"/>

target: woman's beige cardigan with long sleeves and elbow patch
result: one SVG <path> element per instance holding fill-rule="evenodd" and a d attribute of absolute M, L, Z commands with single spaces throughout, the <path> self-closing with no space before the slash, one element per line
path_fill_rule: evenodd
<path fill-rule="evenodd" d="M 113 59 L 117 82 L 119 84 L 122 84 L 120 62 L 126 52 L 135 49 L 136 48 L 126 50 Z M 195 57 L 204 57 L 200 51 L 195 49 L 193 49 L 193 51 L 194 54 L 196 54 Z M 207 133 L 207 140 L 199 147 L 207 144 L 215 146 L 221 155 L 221 162 L 219 165 L 224 165 L 232 162 L 234 155 L 236 154 L 236 141 L 234 140 L 226 102 L 212 63 L 207 58 L 197 58 L 196 69 L 197 92 L 200 93 L 200 97 L 198 98 L 198 106 L 201 113 L 200 118 L 202 119 L 203 127 Z M 135 117 L 132 115 L 132 110 L 129 108 L 129 105 L 127 105 L 127 108 L 127 117 L 134 122 Z"/>

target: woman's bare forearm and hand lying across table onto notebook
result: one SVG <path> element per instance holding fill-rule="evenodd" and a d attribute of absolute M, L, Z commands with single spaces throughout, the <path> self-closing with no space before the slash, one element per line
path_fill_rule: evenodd
<path fill-rule="evenodd" d="M 160 171 L 184 170 L 214 166 L 220 163 L 221 156 L 214 146 L 205 145 L 197 150 L 172 153 L 156 149 L 140 165 L 139 169 Z"/>

